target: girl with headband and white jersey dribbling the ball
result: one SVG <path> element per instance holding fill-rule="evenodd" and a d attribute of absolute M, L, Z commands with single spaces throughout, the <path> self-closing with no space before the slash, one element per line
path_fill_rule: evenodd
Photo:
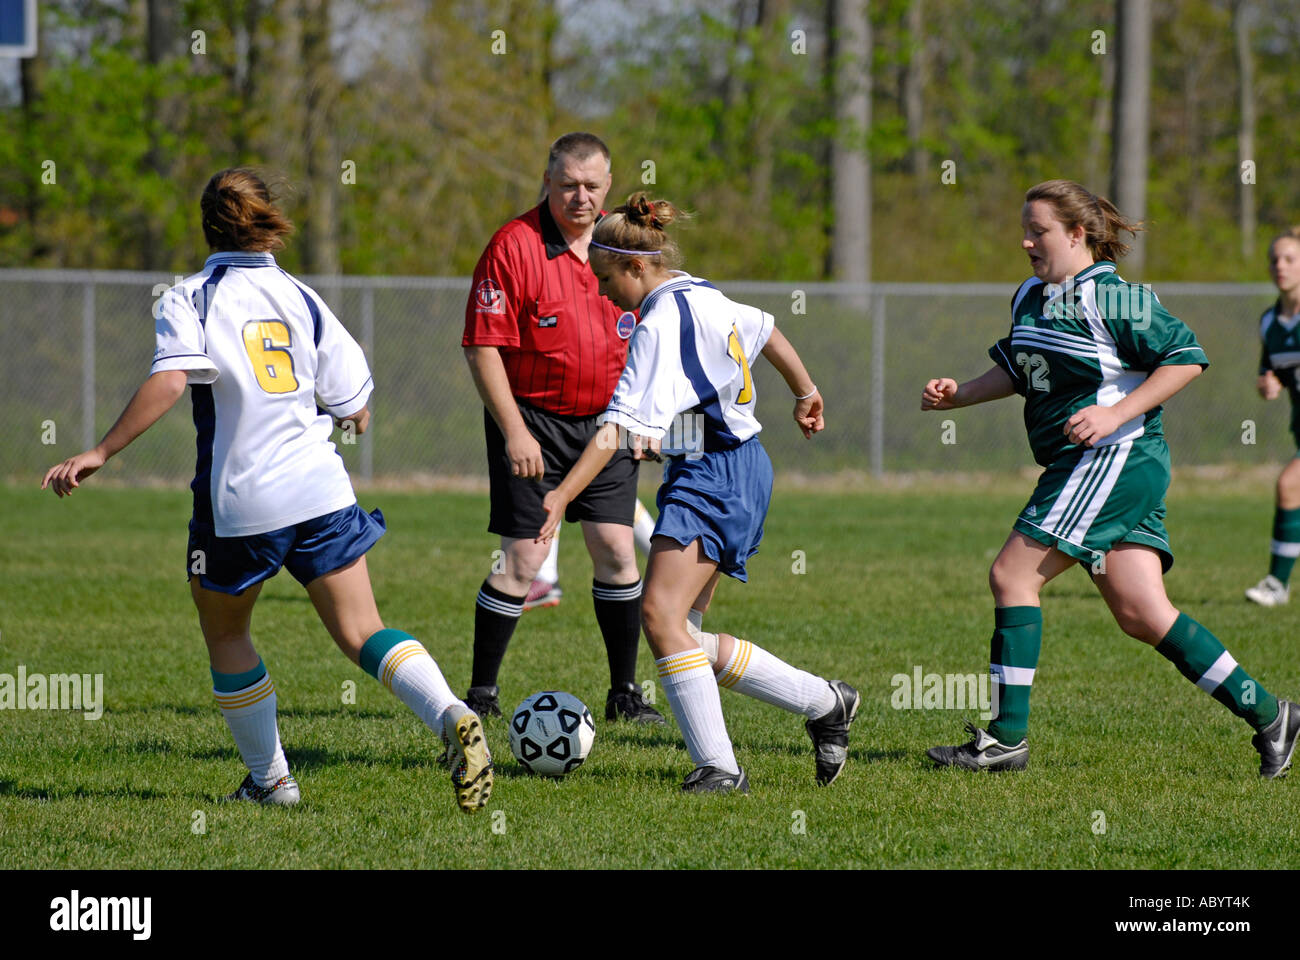
<path fill-rule="evenodd" d="M 599 418 L 603 425 L 546 496 L 538 539 L 555 532 L 564 507 L 624 437 L 637 457 L 668 457 L 641 623 L 696 764 L 682 790 L 749 790 L 727 736 L 719 687 L 807 717 L 816 780 L 829 784 L 848 760 L 858 691 L 792 667 L 757 644 L 702 628 L 719 575 L 748 579 L 745 562 L 758 550 L 772 494 L 748 358 L 762 353 L 785 379 L 805 437 L 824 427 L 822 395 L 770 313 L 671 269 L 680 255 L 664 228 L 681 216 L 667 200 L 633 194 L 595 228 L 590 256 L 601 293 L 624 310 L 640 310 L 641 323 Z"/>

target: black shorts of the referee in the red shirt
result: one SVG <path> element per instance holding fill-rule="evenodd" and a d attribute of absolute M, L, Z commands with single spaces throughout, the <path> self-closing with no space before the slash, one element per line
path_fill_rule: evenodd
<path fill-rule="evenodd" d="M 577 463 L 595 434 L 595 414 L 562 416 L 523 401 L 519 412 L 528 432 L 542 447 L 546 471 L 541 480 L 524 480 L 510 472 L 506 437 L 488 410 L 484 410 L 484 432 L 488 436 L 488 476 L 491 484 L 491 516 L 488 532 L 523 540 L 536 537 L 546 522 L 542 498 L 560 485 L 564 475 Z M 637 466 L 640 460 L 620 447 L 614 459 L 597 473 L 585 490 L 568 505 L 564 519 L 621 523 L 630 527 L 637 503 Z"/>

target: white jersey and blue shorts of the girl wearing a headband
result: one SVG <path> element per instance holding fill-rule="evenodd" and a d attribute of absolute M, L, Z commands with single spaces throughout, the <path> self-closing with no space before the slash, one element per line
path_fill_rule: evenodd
<path fill-rule="evenodd" d="M 758 440 L 749 358 L 772 336 L 772 315 L 673 272 L 641 302 L 641 323 L 610 406 L 598 420 L 663 441 L 654 536 L 699 541 L 718 568 L 746 580 L 763 539 L 772 462 Z"/>

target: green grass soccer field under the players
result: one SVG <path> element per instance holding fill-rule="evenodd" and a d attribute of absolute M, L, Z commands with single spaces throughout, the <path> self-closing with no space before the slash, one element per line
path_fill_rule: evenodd
<path fill-rule="evenodd" d="M 181 566 L 188 492 L 91 480 L 60 502 L 0 488 L 0 673 L 101 673 L 105 691 L 98 721 L 0 713 L 0 869 L 1300 866 L 1300 783 L 1260 782 L 1251 731 L 1119 633 L 1080 571 L 1044 596 L 1030 770 L 930 769 L 924 749 L 965 739 L 975 714 L 892 709 L 890 678 L 987 670 L 985 571 L 1031 485 L 779 488 L 749 585 L 724 583 L 708 624 L 849 680 L 863 704 L 850 765 L 819 790 L 801 718 L 724 692 L 748 797 L 682 796 L 690 760 L 675 726 L 601 721 L 590 565 L 569 528 L 566 600 L 524 615 L 502 702 L 568 689 L 597 714 L 595 748 L 567 780 L 534 779 L 489 722 L 497 787 L 477 816 L 456 810 L 436 739 L 334 649 L 287 574 L 264 589 L 254 637 L 303 803 L 218 804 L 243 767 Z M 495 545 L 486 498 L 377 492 L 361 503 L 389 520 L 370 553 L 386 623 L 419 636 L 463 691 Z M 1296 697 L 1296 610 L 1242 598 L 1264 572 L 1270 518 L 1262 485 L 1180 493 L 1175 480 L 1167 585 L 1264 686 Z M 806 574 L 792 572 L 796 550 Z M 645 648 L 638 674 L 653 675 Z M 348 680 L 355 704 L 343 702 Z"/>

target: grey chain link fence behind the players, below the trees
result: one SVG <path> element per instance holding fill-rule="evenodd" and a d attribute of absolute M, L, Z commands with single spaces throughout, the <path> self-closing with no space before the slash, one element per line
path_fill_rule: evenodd
<path fill-rule="evenodd" d="M 32 483 L 94 445 L 150 369 L 152 304 L 174 277 L 0 269 L 0 477 Z M 370 429 L 335 441 L 359 485 L 486 483 L 482 406 L 460 351 L 464 277 L 303 277 L 364 346 L 374 372 Z M 1032 464 L 1015 399 L 922 414 L 926 380 L 989 367 L 1013 285 L 724 282 L 776 316 L 827 403 L 805 441 L 789 392 L 755 362 L 763 442 L 779 475 L 1006 471 Z M 1254 392 L 1268 284 L 1166 284 L 1161 302 L 1200 337 L 1210 368 L 1166 408 L 1175 464 L 1282 463 L 1295 453 L 1287 401 Z M 195 441 L 182 399 L 103 475 L 188 483 Z"/>

